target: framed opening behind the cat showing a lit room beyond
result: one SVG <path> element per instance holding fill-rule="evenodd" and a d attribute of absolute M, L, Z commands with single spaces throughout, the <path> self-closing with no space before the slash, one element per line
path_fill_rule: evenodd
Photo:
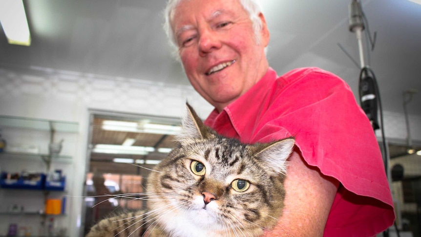
<path fill-rule="evenodd" d="M 147 176 L 176 146 L 179 118 L 89 111 L 84 235 L 99 220 L 146 208 Z M 123 196 L 123 194 L 130 194 Z"/>

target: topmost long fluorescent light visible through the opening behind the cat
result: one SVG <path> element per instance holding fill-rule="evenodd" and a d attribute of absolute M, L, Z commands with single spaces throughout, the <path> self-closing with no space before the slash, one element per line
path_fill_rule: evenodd
<path fill-rule="evenodd" d="M 180 126 L 165 125 L 165 124 L 150 124 L 145 121 L 126 122 L 126 121 L 114 121 L 105 120 L 103 122 L 102 129 L 110 131 L 127 131 L 127 132 L 143 132 L 153 134 L 178 134 L 181 131 Z"/>

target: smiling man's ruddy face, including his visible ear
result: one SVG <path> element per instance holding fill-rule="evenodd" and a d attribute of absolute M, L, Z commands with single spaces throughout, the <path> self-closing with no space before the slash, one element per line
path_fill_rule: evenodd
<path fill-rule="evenodd" d="M 260 42 L 238 0 L 182 0 L 171 24 L 191 85 L 219 111 L 267 71 L 269 32 L 263 15 Z"/>

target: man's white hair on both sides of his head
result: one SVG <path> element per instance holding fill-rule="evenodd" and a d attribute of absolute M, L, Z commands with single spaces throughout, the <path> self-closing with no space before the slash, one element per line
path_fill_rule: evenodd
<path fill-rule="evenodd" d="M 164 10 L 164 30 L 167 34 L 168 40 L 171 45 L 175 48 L 175 51 L 178 50 L 177 40 L 175 39 L 174 32 L 172 31 L 171 23 L 174 20 L 174 9 L 182 0 L 168 0 L 167 6 Z M 259 31 L 263 27 L 263 23 L 259 18 L 261 9 L 257 0 L 238 0 L 243 6 L 244 10 L 249 14 L 250 20 L 253 23 L 254 35 L 256 36 L 257 43 L 260 43 L 260 34 Z"/>

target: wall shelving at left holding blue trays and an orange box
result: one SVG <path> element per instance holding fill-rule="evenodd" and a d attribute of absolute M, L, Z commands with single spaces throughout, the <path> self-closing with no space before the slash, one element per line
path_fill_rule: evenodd
<path fill-rule="evenodd" d="M 60 220 L 65 203 L 79 125 L 0 115 L 0 237 L 17 229 L 17 236 L 65 236 Z M 62 145 L 60 152 L 50 144 Z M 51 150 L 53 149 L 53 150 Z M 52 221 L 54 220 L 54 221 Z"/>

